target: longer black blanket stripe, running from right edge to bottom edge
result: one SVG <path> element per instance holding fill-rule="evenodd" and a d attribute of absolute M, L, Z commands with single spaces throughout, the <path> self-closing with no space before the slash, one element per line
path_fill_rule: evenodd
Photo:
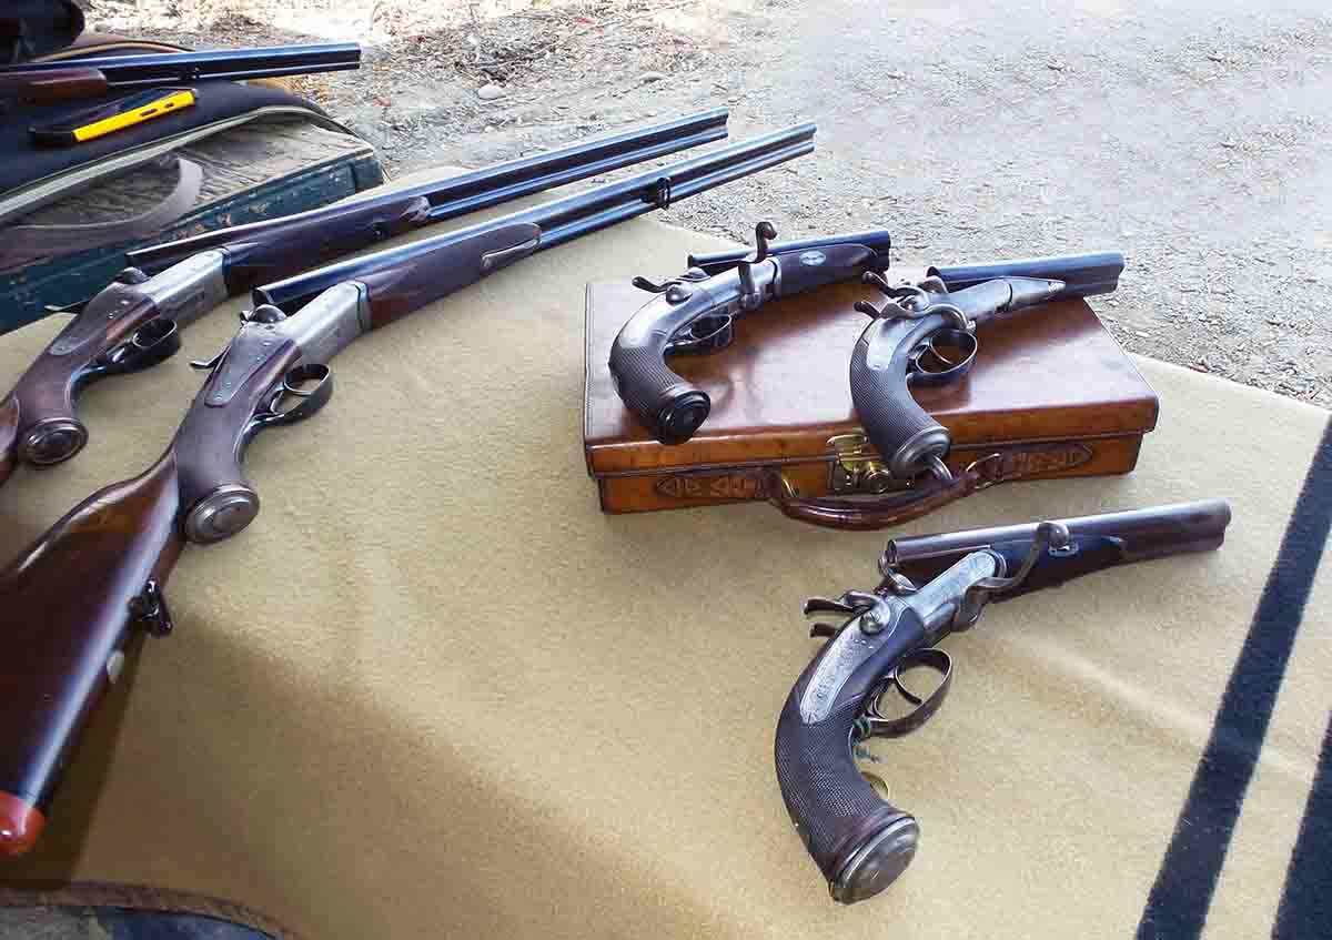
<path fill-rule="evenodd" d="M 1329 530 L 1332 422 L 1323 431 L 1225 686 L 1212 735 L 1138 924 L 1138 940 L 1191 940 L 1203 932 Z"/>

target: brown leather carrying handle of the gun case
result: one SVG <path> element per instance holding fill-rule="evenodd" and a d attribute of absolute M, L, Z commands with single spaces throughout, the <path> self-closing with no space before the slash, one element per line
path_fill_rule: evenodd
<path fill-rule="evenodd" d="M 1068 451 L 1067 443 L 1055 447 L 1063 455 Z M 782 477 L 781 470 L 767 471 L 766 489 L 769 501 L 785 515 L 813 526 L 850 530 L 888 529 L 996 483 L 1010 483 L 1048 470 L 1040 458 L 1050 453 L 1050 447 L 1014 447 L 995 451 L 954 474 L 948 482 L 928 477 L 907 491 L 883 495 L 801 497 Z M 1091 459 L 1090 450 L 1086 459 Z M 1086 459 L 1080 462 L 1084 463 Z"/>

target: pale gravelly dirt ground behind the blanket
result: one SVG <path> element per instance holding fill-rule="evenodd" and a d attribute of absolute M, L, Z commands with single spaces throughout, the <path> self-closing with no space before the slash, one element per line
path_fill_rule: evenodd
<path fill-rule="evenodd" d="M 1132 352 L 1332 405 L 1327 0 L 89 0 L 198 48 L 357 39 L 301 89 L 401 173 L 707 107 L 818 150 L 679 204 L 750 241 L 888 228 L 895 257 L 1119 249 Z M 645 272 L 663 273 L 663 272 Z"/>

